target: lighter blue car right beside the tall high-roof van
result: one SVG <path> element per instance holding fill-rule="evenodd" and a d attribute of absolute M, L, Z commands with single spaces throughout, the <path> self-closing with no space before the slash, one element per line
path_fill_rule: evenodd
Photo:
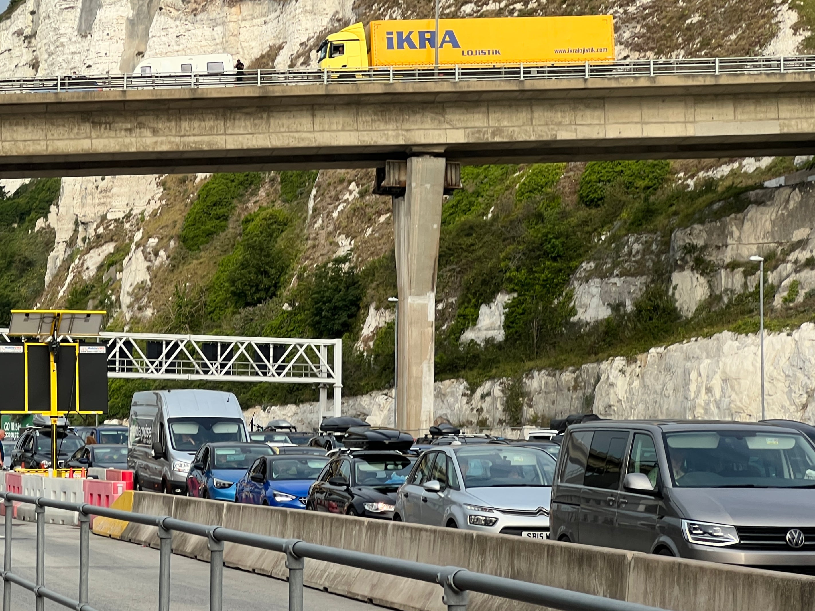
<path fill-rule="evenodd" d="M 261 456 L 271 455 L 265 443 L 206 443 L 192 459 L 187 495 L 200 499 L 235 500 L 235 482 Z"/>

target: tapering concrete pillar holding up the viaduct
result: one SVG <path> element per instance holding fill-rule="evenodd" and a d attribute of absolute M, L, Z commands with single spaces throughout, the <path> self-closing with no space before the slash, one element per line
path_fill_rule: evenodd
<path fill-rule="evenodd" d="M 433 424 L 436 270 L 446 160 L 407 159 L 405 195 L 394 197 L 399 329 L 396 426 L 414 437 Z"/>

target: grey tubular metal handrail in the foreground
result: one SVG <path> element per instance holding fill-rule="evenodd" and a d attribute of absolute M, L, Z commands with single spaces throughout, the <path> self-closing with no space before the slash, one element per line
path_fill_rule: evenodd
<path fill-rule="evenodd" d="M 240 543 L 240 545 L 258 547 L 286 555 L 286 568 L 289 569 L 289 611 L 302 611 L 303 609 L 303 569 L 307 558 L 423 582 L 438 583 L 443 588 L 443 603 L 447 605 L 448 611 L 466 611 L 470 591 L 510 600 L 520 600 L 531 604 L 540 604 L 551 609 L 562 609 L 562 611 L 662 611 L 662 609 L 656 609 L 644 604 L 476 573 L 456 566 L 427 565 L 412 560 L 352 552 L 337 547 L 306 543 L 300 539 L 267 537 L 240 530 L 231 530 L 222 526 L 196 524 L 177 520 L 170 516 L 151 516 L 143 513 L 124 512 L 87 503 L 67 503 L 55 499 L 17 495 L 11 492 L 0 492 L 0 498 L 3 499 L 6 508 L 4 526 L 5 553 L 3 569 L 0 571 L 0 578 L 3 580 L 3 611 L 11 611 L 12 583 L 33 591 L 34 595 L 37 596 L 37 611 L 42 610 L 45 599 L 53 600 L 69 609 L 76 609 L 76 611 L 95 611 L 88 604 L 90 516 L 110 517 L 114 520 L 136 522 L 158 528 L 159 611 L 170 611 L 170 556 L 172 554 L 174 531 L 198 535 L 208 540 L 211 555 L 209 560 L 210 611 L 222 611 L 223 544 L 226 542 Z M 32 583 L 11 572 L 12 501 L 30 503 L 35 507 L 37 517 L 36 583 Z M 77 512 L 79 515 L 79 600 L 72 600 L 67 596 L 49 590 L 44 585 L 46 507 L 65 509 Z"/>

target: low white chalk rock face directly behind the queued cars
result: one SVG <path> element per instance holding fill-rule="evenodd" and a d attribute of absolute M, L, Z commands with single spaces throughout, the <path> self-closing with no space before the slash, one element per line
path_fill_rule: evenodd
<path fill-rule="evenodd" d="M 766 415 L 815 424 L 815 324 L 764 340 Z M 654 348 L 636 359 L 617 357 L 563 371 L 532 371 L 523 378 L 525 420 L 593 412 L 603 418 L 760 420 L 761 379 L 757 335 L 719 333 L 707 339 Z M 471 391 L 465 380 L 434 386 L 435 420 L 501 429 L 504 380 Z M 252 412 L 250 412 L 252 413 Z M 371 424 L 393 422 L 392 391 L 343 398 L 343 415 Z M 311 428 L 316 402 L 270 407 L 264 417 Z"/>

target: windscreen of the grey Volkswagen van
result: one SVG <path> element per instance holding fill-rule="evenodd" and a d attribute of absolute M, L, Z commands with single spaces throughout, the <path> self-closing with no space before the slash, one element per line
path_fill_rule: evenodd
<path fill-rule="evenodd" d="M 674 486 L 815 487 L 815 449 L 800 433 L 665 433 Z"/>

